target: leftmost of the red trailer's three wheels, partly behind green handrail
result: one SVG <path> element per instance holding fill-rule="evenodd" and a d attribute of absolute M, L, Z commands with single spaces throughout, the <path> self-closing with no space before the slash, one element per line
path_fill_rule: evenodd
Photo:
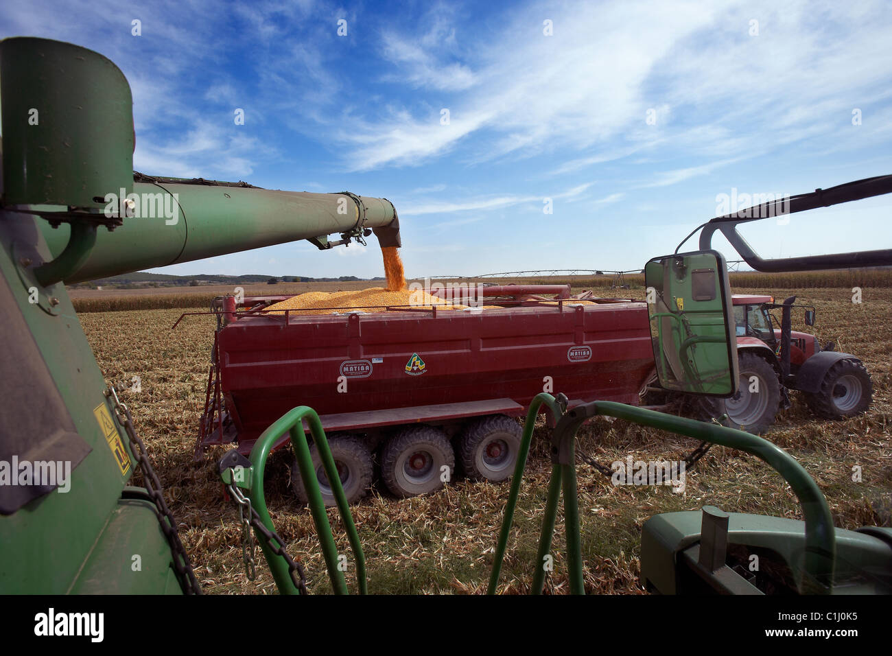
<path fill-rule="evenodd" d="M 328 447 L 331 449 L 332 457 L 335 459 L 335 465 L 341 477 L 341 485 L 343 486 L 343 493 L 347 496 L 347 502 L 358 502 L 368 494 L 368 487 L 372 484 L 371 451 L 358 437 L 349 435 L 329 437 Z M 310 444 L 310 455 L 313 458 L 313 468 L 316 469 L 316 478 L 319 484 L 319 492 L 322 493 L 322 500 L 326 503 L 326 506 L 334 506 L 335 493 L 332 492 L 331 486 L 328 484 L 326 470 L 322 467 L 316 444 Z M 294 494 L 297 495 L 298 500 L 301 503 L 309 502 L 310 499 L 307 497 L 307 492 L 303 489 L 301 470 L 297 466 L 296 458 L 291 467 L 291 482 Z"/>

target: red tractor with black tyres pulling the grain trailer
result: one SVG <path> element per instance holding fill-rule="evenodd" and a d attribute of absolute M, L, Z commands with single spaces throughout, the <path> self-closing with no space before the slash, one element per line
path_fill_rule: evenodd
<path fill-rule="evenodd" d="M 790 329 L 794 307 L 805 307 L 805 324 L 814 326 L 814 307 L 794 305 L 796 296 L 774 303 L 768 295 L 733 295 L 737 330 L 739 391 L 728 399 L 700 397 L 709 417 L 750 433 L 762 433 L 774 416 L 789 408 L 790 389 L 805 394 L 818 417 L 841 419 L 867 410 L 871 376 L 862 361 L 849 353 L 823 348 L 814 335 Z M 771 310 L 780 309 L 777 320 Z M 705 400 L 702 400 L 705 399 Z"/>

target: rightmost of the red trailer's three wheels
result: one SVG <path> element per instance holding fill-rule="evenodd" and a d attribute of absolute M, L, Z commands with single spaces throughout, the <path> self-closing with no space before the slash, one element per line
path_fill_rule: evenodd
<path fill-rule="evenodd" d="M 522 435 L 520 424 L 503 414 L 470 423 L 458 443 L 465 475 L 472 480 L 493 483 L 510 477 Z"/>

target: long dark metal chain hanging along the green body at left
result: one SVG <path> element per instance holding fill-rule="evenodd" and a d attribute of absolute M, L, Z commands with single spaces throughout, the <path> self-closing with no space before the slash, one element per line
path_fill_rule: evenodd
<path fill-rule="evenodd" d="M 161 486 L 161 480 L 158 478 L 158 475 L 152 467 L 152 463 L 149 461 L 149 454 L 145 449 L 145 444 L 143 444 L 143 441 L 136 435 L 136 430 L 133 428 L 133 417 L 130 416 L 130 411 L 128 410 L 127 405 L 120 403 L 120 399 L 115 392 L 114 386 L 109 386 L 108 389 L 105 390 L 105 395 L 111 399 L 115 414 L 118 415 L 120 424 L 124 427 L 124 430 L 127 431 L 127 436 L 130 440 L 130 450 L 133 452 L 136 464 L 143 471 L 143 484 L 158 511 L 158 523 L 161 525 L 161 531 L 163 531 L 164 536 L 170 544 L 170 552 L 173 556 L 173 567 L 177 572 L 180 586 L 186 594 L 202 594 L 202 585 L 199 584 L 198 579 L 195 578 L 192 564 L 189 562 L 189 555 L 186 553 L 186 548 L 179 539 L 177 520 L 174 519 L 173 513 L 170 512 L 167 502 L 164 501 L 164 489 Z"/>

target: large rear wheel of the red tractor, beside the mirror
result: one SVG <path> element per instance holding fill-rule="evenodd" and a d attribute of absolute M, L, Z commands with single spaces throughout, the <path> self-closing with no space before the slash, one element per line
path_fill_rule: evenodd
<path fill-rule="evenodd" d="M 780 408 L 780 381 L 768 361 L 756 353 L 739 354 L 740 380 L 737 394 L 721 399 L 704 396 L 698 399 L 702 419 L 718 419 L 731 428 L 758 435 L 774 423 Z"/>

